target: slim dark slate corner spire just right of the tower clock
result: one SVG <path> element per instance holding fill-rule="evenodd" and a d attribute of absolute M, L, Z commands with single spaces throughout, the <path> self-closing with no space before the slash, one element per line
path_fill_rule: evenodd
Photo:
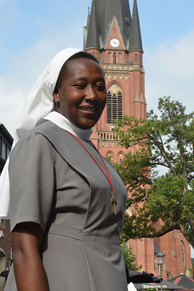
<path fill-rule="evenodd" d="M 137 1 L 133 2 L 133 13 L 131 18 L 131 27 L 129 34 L 129 50 L 140 49 L 143 51 L 142 47 L 142 37 L 140 31 L 139 15 L 137 10 Z"/>

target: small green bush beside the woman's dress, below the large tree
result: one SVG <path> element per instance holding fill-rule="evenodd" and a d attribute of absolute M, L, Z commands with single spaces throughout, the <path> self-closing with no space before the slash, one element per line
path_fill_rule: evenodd
<path fill-rule="evenodd" d="M 131 247 L 127 247 L 125 242 L 121 243 L 121 252 L 125 261 L 125 266 L 127 269 L 138 271 L 142 266 L 138 266 L 136 261 L 136 256 L 131 252 Z"/>

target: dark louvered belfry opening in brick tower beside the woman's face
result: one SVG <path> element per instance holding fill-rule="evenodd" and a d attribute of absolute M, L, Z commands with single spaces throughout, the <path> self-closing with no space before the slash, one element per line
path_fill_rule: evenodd
<path fill-rule="evenodd" d="M 122 93 L 117 94 L 108 91 L 107 94 L 107 123 L 114 124 L 114 120 L 122 120 L 123 117 L 123 100 Z"/>

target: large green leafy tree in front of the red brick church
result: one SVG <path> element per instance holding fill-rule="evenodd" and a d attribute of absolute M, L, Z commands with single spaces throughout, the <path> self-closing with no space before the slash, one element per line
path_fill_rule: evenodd
<path fill-rule="evenodd" d="M 194 247 L 194 112 L 170 97 L 159 99 L 161 116 L 153 110 L 147 119 L 125 116 L 116 132 L 129 149 L 115 168 L 129 191 L 122 241 L 160 237 L 179 229 Z M 159 176 L 157 167 L 166 173 Z M 158 224 L 161 218 L 162 224 Z"/>

